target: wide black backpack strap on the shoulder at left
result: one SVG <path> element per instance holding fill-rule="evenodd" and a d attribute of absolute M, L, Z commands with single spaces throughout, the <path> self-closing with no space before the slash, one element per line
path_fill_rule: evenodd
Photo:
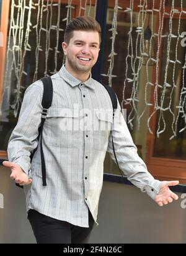
<path fill-rule="evenodd" d="M 42 159 L 42 181 L 43 181 L 43 186 L 47 186 L 47 181 L 46 181 L 46 167 L 45 167 L 45 157 L 43 154 L 43 145 L 42 145 L 42 136 L 43 136 L 43 125 L 45 123 L 45 119 L 47 117 L 47 111 L 48 108 L 51 106 L 51 101 L 53 98 L 53 86 L 52 86 L 52 81 L 51 77 L 47 76 L 41 79 L 43 83 L 43 99 L 42 99 L 42 107 L 43 107 L 43 112 L 42 112 L 42 122 L 40 127 L 38 128 L 38 137 L 37 140 L 40 139 L 40 149 L 41 149 L 41 159 Z M 32 163 L 32 158 L 35 152 L 37 151 L 37 148 L 33 150 L 33 152 L 30 154 L 30 162 Z M 19 186 L 19 188 L 24 188 L 24 186 L 20 186 L 18 183 L 15 184 L 16 186 Z"/>

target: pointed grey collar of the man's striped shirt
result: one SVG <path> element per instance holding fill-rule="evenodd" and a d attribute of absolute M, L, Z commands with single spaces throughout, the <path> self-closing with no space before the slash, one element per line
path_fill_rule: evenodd
<path fill-rule="evenodd" d="M 82 81 L 80 81 L 78 78 L 76 78 L 73 75 L 71 75 L 71 73 L 69 73 L 69 71 L 66 70 L 64 65 L 61 67 L 61 69 L 59 71 L 59 74 L 64 79 L 64 81 L 66 81 L 66 83 L 68 83 L 72 87 L 78 86 L 78 85 L 80 85 L 82 83 Z M 91 89 L 95 89 L 94 82 L 92 81 L 92 75 L 91 74 L 89 76 L 89 79 L 87 81 L 83 82 L 83 83 L 87 87 L 89 87 Z"/>

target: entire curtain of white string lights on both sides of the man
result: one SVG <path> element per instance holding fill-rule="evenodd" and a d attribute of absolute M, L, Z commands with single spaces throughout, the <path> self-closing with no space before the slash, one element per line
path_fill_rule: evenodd
<path fill-rule="evenodd" d="M 76 1 L 77 2 L 77 1 Z M 82 1 L 79 0 L 79 15 L 82 15 L 82 11 L 86 11 L 87 15 L 90 15 L 91 8 L 94 9 L 94 17 L 95 10 L 97 6 L 97 1 L 94 1 L 94 4 L 91 0 Z M 185 63 L 182 65 L 181 60 L 178 57 L 178 49 L 180 47 L 180 40 L 183 39 L 183 35 L 180 24 L 182 21 L 182 17 L 185 15 L 185 11 L 183 8 L 183 0 L 180 0 L 180 11 L 175 7 L 175 2 L 172 0 L 172 6 L 170 7 L 170 12 L 166 13 L 166 0 L 159 0 L 159 8 L 155 8 L 156 0 L 140 0 L 138 5 L 138 11 L 134 11 L 135 0 L 130 0 L 130 6 L 126 9 L 122 9 L 120 4 L 122 0 L 115 0 L 115 7 L 113 12 L 113 21 L 112 28 L 109 33 L 110 44 L 111 44 L 111 52 L 108 56 L 108 72 L 102 74 L 102 76 L 107 76 L 108 85 L 112 86 L 112 78 L 116 75 L 113 74 L 113 66 L 116 65 L 114 60 L 117 58 L 117 52 L 115 50 L 115 40 L 117 40 L 117 17 L 118 10 L 122 10 L 123 12 L 128 12 L 130 15 L 130 30 L 128 32 L 128 47 L 127 49 L 123 49 L 127 51 L 126 60 L 123 62 L 123 66 L 126 66 L 125 71 L 125 80 L 123 81 L 123 101 L 122 107 L 125 108 L 126 105 L 130 106 L 130 112 L 128 114 L 128 124 L 131 129 L 133 129 L 134 122 L 137 121 L 138 128 L 140 126 L 141 117 L 144 116 L 146 111 L 149 112 L 149 107 L 153 107 L 152 114 L 148 117 L 147 126 L 149 132 L 152 133 L 152 128 L 150 126 L 151 119 L 154 114 L 158 114 L 157 121 L 157 137 L 162 134 L 166 130 L 166 121 L 165 114 L 169 112 L 172 116 L 172 135 L 170 139 L 174 139 L 177 135 L 177 132 L 183 132 L 186 129 L 186 87 L 184 85 L 185 81 L 185 70 L 186 70 L 186 55 L 185 55 Z M 28 52 L 32 52 L 35 55 L 35 70 L 33 75 L 33 81 L 38 79 L 38 68 L 39 68 L 39 58 L 41 53 L 45 53 L 45 71 L 44 75 L 52 75 L 56 73 L 58 66 L 58 57 L 60 51 L 58 50 L 58 42 L 60 38 L 60 33 L 63 33 L 63 28 L 60 27 L 60 19 L 61 19 L 61 4 L 63 1 L 60 0 L 12 0 L 11 1 L 11 19 L 9 25 L 9 37 L 7 40 L 7 63 L 6 63 L 6 74 L 4 80 L 4 92 L 6 94 L 7 102 L 9 103 L 9 95 L 11 89 L 11 76 L 12 71 L 15 73 L 16 77 L 16 85 L 15 85 L 15 101 L 14 104 L 11 105 L 12 109 L 14 109 L 14 115 L 17 116 L 19 111 L 19 106 L 22 101 L 22 78 L 27 76 L 27 71 L 25 70 L 25 57 Z M 68 4 L 65 6 L 66 17 L 63 18 L 63 22 L 66 25 L 72 16 L 72 10 L 74 9 L 73 0 L 68 0 Z M 63 11 L 63 9 L 62 9 Z M 37 13 L 37 20 L 32 20 L 32 13 Z M 135 28 L 136 37 L 133 38 L 133 14 L 138 12 L 137 21 L 138 26 Z M 55 24 L 52 23 L 52 17 L 57 13 Z M 179 14 L 179 25 L 177 27 L 177 33 L 173 34 L 172 26 L 173 26 L 173 18 L 174 14 Z M 15 15 L 16 14 L 16 15 Z M 149 55 L 144 51 L 144 30 L 146 29 L 146 19 L 148 19 L 149 15 L 151 16 L 151 38 L 149 40 Z M 154 17 L 157 17 L 159 20 L 159 27 L 154 29 Z M 16 18 L 15 18 L 16 17 Z M 163 34 L 164 31 L 164 17 L 169 17 L 169 33 Z M 24 22 L 26 20 L 27 26 L 24 26 Z M 33 50 L 33 45 L 31 45 L 30 32 L 35 32 L 35 45 L 36 48 Z M 55 32 L 55 38 L 51 39 L 51 31 Z M 45 45 L 41 45 L 41 39 L 43 33 L 46 34 L 46 42 Z M 167 53 L 166 53 L 166 65 L 165 65 L 165 75 L 164 81 L 160 81 L 160 61 L 162 56 L 160 55 L 160 50 L 162 47 L 163 39 L 167 39 Z M 174 59 L 170 58 L 170 46 L 172 50 L 172 42 L 176 39 L 176 43 L 174 43 L 174 51 L 175 57 Z M 55 47 L 51 47 L 51 40 L 55 40 Z M 135 42 L 134 42 L 135 40 Z M 156 55 L 151 56 L 151 49 L 153 47 L 153 40 L 157 42 L 157 50 Z M 135 47 L 134 47 L 135 45 Z M 120 49 L 122 51 L 122 49 Z M 50 70 L 48 73 L 48 56 L 50 52 L 53 53 L 53 70 Z M 139 112 L 138 104 L 139 100 L 139 76 L 140 72 L 144 65 L 144 59 L 146 61 L 146 86 L 143 91 L 144 97 L 144 109 Z M 64 62 L 64 59 L 63 59 Z M 153 81 L 153 76 L 149 70 L 149 62 L 154 63 L 156 70 L 156 80 Z M 169 68 L 172 66 L 172 82 L 168 81 L 168 76 L 170 76 Z M 179 66 L 180 70 L 182 70 L 182 84 L 179 95 L 179 104 L 177 104 L 176 111 L 172 109 L 172 98 L 175 94 L 175 91 L 178 89 L 176 83 L 176 67 Z M 122 85 L 121 85 L 122 86 Z M 154 99 L 153 103 L 149 102 L 148 94 L 151 89 L 154 89 Z M 170 101 L 169 104 L 166 105 L 166 93 L 167 88 L 170 89 Z M 161 89 L 161 94 L 159 90 Z M 126 97 L 126 92 L 131 91 L 130 96 Z M 181 130 L 177 130 L 178 122 L 180 119 L 184 119 L 185 127 Z"/>

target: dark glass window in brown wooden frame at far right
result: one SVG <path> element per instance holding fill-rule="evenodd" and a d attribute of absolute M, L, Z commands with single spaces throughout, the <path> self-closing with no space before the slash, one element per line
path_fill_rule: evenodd
<path fill-rule="evenodd" d="M 172 34 L 178 35 L 178 27 L 179 27 L 179 20 L 173 19 L 173 25 L 172 25 Z M 180 22 L 180 31 L 185 31 L 186 29 L 186 20 L 182 19 Z M 165 27 L 164 27 L 164 33 L 169 33 L 169 19 L 166 19 L 165 21 Z M 181 40 L 181 39 L 180 39 Z M 186 77 L 183 78 L 183 72 L 184 69 L 180 68 L 180 66 L 184 66 L 185 63 L 185 50 L 186 47 L 181 46 L 181 42 L 179 40 L 178 48 L 177 48 L 177 59 L 182 62 L 182 64 L 175 65 L 175 72 L 174 72 L 174 65 L 169 65 L 169 68 L 167 70 L 167 83 L 169 85 L 175 85 L 177 86 L 174 89 L 174 93 L 171 94 L 172 86 L 166 88 L 166 94 L 165 94 L 165 105 L 164 108 L 169 107 L 172 109 L 173 114 L 175 117 L 177 117 L 178 108 L 176 106 L 179 106 L 180 101 L 180 90 L 182 88 L 182 84 L 186 83 Z M 175 45 L 177 43 L 177 38 L 172 38 L 170 43 L 170 60 L 175 60 Z M 163 43 L 163 52 L 162 56 L 164 58 L 161 58 L 161 85 L 164 84 L 164 78 L 166 73 L 166 60 L 167 60 L 167 38 L 164 39 Z M 183 79 L 185 81 L 183 81 Z M 159 99 L 161 99 L 162 95 L 162 89 L 159 89 Z M 182 95 L 182 101 L 184 101 L 184 94 Z M 159 105 L 161 103 L 159 102 Z M 161 127 L 164 126 L 163 120 L 161 119 L 161 122 L 159 121 L 159 112 L 157 115 L 157 121 L 156 124 L 158 126 L 158 123 Z M 164 157 L 164 158 L 177 158 L 177 159 L 184 159 L 185 160 L 185 154 L 186 154 L 186 130 L 184 132 L 179 132 L 179 130 L 183 129 L 185 127 L 185 121 L 184 118 L 182 118 L 182 114 L 179 115 L 178 121 L 177 121 L 177 137 L 170 140 L 170 137 L 172 137 L 172 125 L 175 126 L 175 121 L 173 115 L 170 113 L 170 111 L 164 111 L 164 121 L 166 122 L 166 130 L 164 133 L 159 135 L 159 139 L 156 137 L 155 144 L 154 144 L 154 157 Z"/>

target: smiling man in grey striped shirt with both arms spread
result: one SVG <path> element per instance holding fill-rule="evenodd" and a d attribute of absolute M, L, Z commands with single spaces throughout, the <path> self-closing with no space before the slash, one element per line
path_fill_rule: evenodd
<path fill-rule="evenodd" d="M 113 120 L 107 90 L 91 78 L 91 68 L 99 55 L 100 33 L 100 25 L 91 17 L 77 17 L 66 27 L 62 43 L 66 61 L 51 76 L 53 101 L 43 126 L 47 186 L 42 185 L 37 142 L 42 81 L 25 91 L 19 121 L 9 140 L 9 162 L 3 164 L 11 168 L 15 183 L 25 185 L 28 218 L 38 243 L 88 242 L 97 219 L 106 151 L 115 160 L 111 129 L 117 160 L 128 180 L 159 206 L 178 198 L 169 186 L 179 181 L 154 180 L 136 153 L 119 103 Z M 30 152 L 37 145 L 30 167 Z"/>

